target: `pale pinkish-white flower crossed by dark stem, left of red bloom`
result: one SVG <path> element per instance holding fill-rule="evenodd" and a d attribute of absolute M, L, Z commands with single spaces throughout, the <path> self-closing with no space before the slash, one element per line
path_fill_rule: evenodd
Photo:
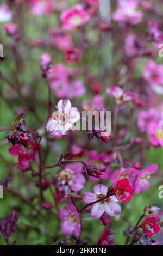
<path fill-rule="evenodd" d="M 93 192 L 86 192 L 83 194 L 83 200 L 89 204 L 99 199 L 106 197 L 108 193 L 108 187 L 99 184 L 93 188 Z M 100 218 L 104 212 L 109 216 L 116 216 L 121 213 L 121 206 L 117 204 L 117 198 L 115 196 L 108 197 L 101 202 L 92 205 L 91 216 L 94 218 Z"/>

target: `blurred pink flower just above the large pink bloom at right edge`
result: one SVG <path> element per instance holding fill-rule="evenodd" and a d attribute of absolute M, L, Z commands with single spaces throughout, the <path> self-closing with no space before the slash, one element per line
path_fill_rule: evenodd
<path fill-rule="evenodd" d="M 142 110 L 137 117 L 137 126 L 141 132 L 147 132 L 148 124 L 151 121 L 158 122 L 160 113 L 156 108 L 149 108 L 148 110 Z"/>

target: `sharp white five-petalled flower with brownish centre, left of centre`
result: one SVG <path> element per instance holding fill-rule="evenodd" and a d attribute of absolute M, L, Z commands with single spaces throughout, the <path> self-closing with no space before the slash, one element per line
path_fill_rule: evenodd
<path fill-rule="evenodd" d="M 53 136 L 59 133 L 65 135 L 79 119 L 80 113 L 76 107 L 71 107 L 70 100 L 59 100 L 57 111 L 48 120 L 46 130 Z"/>

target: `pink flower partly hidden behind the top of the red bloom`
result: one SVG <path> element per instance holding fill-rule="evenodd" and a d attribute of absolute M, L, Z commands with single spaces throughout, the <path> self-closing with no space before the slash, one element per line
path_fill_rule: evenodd
<path fill-rule="evenodd" d="M 135 180 L 138 174 L 139 174 L 139 170 L 133 167 L 116 170 L 114 173 L 111 174 L 109 181 L 110 183 L 115 184 L 115 182 L 117 182 L 118 180 L 127 178 L 130 182 L 130 185 L 134 187 Z"/>

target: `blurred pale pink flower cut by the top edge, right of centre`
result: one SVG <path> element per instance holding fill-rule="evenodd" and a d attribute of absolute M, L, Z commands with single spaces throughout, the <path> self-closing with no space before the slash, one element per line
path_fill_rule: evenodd
<path fill-rule="evenodd" d="M 118 0 L 118 8 L 112 13 L 112 20 L 118 23 L 129 23 L 131 25 L 141 22 L 143 13 L 142 11 L 136 10 L 138 5 L 138 0 Z"/>

